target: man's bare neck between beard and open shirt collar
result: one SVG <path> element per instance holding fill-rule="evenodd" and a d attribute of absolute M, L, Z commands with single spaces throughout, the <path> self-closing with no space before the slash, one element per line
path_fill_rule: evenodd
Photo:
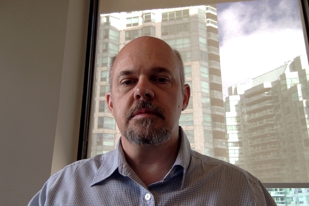
<path fill-rule="evenodd" d="M 121 137 L 121 145 L 129 166 L 146 186 L 165 177 L 179 151 L 178 136 L 160 145 L 135 145 Z"/>

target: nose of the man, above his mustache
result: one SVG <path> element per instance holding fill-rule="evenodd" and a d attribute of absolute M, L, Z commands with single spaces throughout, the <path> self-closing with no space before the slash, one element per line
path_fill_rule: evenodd
<path fill-rule="evenodd" d="M 145 77 L 141 76 L 138 79 L 138 83 L 135 87 L 134 91 L 134 99 L 136 100 L 151 100 L 155 96 L 155 93 L 152 89 L 152 84 L 151 82 Z"/>

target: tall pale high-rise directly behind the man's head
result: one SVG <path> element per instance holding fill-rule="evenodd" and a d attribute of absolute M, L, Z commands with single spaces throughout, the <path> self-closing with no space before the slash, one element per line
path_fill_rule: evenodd
<path fill-rule="evenodd" d="M 158 37 L 181 53 L 191 97 L 179 124 L 192 149 L 228 161 L 215 5 L 100 16 L 91 156 L 114 149 L 120 137 L 105 101 L 108 64 L 125 44 L 139 36 Z"/>

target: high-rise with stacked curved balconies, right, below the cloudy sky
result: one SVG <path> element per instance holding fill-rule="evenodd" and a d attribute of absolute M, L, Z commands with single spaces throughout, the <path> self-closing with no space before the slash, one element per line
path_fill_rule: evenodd
<path fill-rule="evenodd" d="M 245 90 L 237 86 L 229 89 L 226 123 L 230 162 L 262 182 L 309 181 L 308 68 L 307 57 L 299 56 L 241 85 L 247 87 Z M 229 123 L 231 118 L 235 119 L 233 124 Z"/>

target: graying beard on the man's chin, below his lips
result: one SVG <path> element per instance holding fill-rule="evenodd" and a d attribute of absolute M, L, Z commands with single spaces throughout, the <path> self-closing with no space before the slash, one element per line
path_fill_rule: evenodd
<path fill-rule="evenodd" d="M 155 119 L 142 118 L 135 120 L 137 129 L 126 128 L 124 136 L 136 145 L 159 145 L 171 139 L 171 129 L 166 127 L 155 127 Z"/>

